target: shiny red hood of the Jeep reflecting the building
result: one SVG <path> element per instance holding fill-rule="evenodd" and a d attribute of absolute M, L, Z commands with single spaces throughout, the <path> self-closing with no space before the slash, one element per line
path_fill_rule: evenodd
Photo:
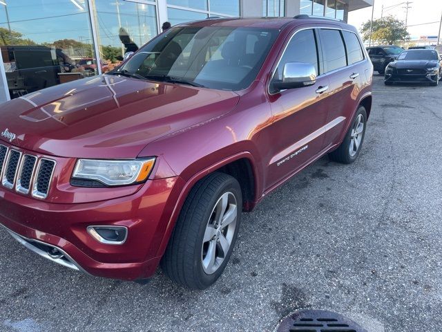
<path fill-rule="evenodd" d="M 0 139 L 52 156 L 135 158 L 149 142 L 221 116 L 238 100 L 231 91 L 102 75 L 0 104 L 0 132 L 8 133 Z"/>

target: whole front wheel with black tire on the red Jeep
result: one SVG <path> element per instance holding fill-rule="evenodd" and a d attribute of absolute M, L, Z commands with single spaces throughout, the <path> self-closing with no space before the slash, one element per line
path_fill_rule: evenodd
<path fill-rule="evenodd" d="M 164 273 L 187 288 L 204 289 L 215 283 L 235 246 L 241 212 L 236 178 L 215 172 L 198 181 L 184 202 L 162 258 Z M 229 223 L 218 224 L 220 220 Z"/>

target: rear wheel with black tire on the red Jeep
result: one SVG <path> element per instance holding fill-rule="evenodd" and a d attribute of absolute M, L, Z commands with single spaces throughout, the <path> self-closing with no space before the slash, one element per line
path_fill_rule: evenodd
<path fill-rule="evenodd" d="M 360 124 L 363 124 L 361 128 Z M 359 133 L 354 137 L 354 130 L 357 128 Z M 358 111 L 352 120 L 352 124 L 350 125 L 347 133 L 345 134 L 345 138 L 342 143 L 340 143 L 338 149 L 329 153 L 330 160 L 336 161 L 337 163 L 343 164 L 351 164 L 358 158 L 359 152 L 362 149 L 362 145 L 365 137 L 365 129 L 367 128 L 367 111 L 365 111 L 365 107 L 360 106 Z M 355 142 L 358 142 L 358 145 Z M 356 148 L 356 151 L 355 151 Z M 352 149 L 352 151 L 350 151 Z"/>

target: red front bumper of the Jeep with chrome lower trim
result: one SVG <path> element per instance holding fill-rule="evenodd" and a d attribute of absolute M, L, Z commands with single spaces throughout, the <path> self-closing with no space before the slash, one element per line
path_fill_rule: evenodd
<path fill-rule="evenodd" d="M 23 246 L 68 268 L 144 279 L 160 262 L 158 248 L 183 185 L 179 177 L 158 179 L 131 196 L 82 204 L 37 201 L 1 187 L 0 224 Z M 100 243 L 88 225 L 124 225 L 128 237 L 122 245 Z"/>

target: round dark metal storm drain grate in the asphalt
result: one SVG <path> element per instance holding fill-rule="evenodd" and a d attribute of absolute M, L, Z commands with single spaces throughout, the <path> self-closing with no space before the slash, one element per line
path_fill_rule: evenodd
<path fill-rule="evenodd" d="M 280 323 L 277 332 L 367 332 L 338 313 L 325 310 L 302 310 Z"/>

